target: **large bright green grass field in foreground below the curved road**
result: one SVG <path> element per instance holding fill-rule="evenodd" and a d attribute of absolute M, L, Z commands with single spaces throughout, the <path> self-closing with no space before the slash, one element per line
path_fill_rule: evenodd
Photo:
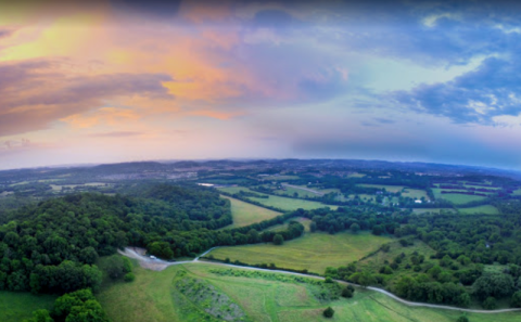
<path fill-rule="evenodd" d="M 173 266 L 161 272 L 136 267 L 135 282 L 111 284 L 102 289 L 98 299 L 113 322 L 202 321 L 204 313 L 198 320 L 193 313 L 196 313 L 196 309 L 192 310 L 191 319 L 182 314 L 183 306 L 178 301 L 178 293 L 173 287 L 176 274 L 185 270 L 188 276 L 207 281 L 221 295 L 232 299 L 251 321 L 454 322 L 461 315 L 454 310 L 408 307 L 383 294 L 361 288 L 356 288 L 351 299 L 341 297 L 332 301 L 318 301 L 306 283 L 263 276 L 218 275 L 212 272 L 215 269 L 220 268 L 202 262 Z M 240 268 L 232 270 L 244 271 Z M 332 319 L 322 317 L 322 311 L 328 306 L 335 311 Z M 200 312 L 203 309 L 200 308 Z M 520 321 L 519 312 L 468 313 L 467 317 L 472 322 Z"/>

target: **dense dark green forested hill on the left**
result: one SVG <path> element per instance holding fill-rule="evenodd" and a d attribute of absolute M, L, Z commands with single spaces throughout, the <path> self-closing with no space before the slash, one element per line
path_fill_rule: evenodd
<path fill-rule="evenodd" d="M 144 186 L 142 197 L 72 194 L 4 214 L 0 227 L 0 289 L 64 293 L 96 288 L 93 263 L 125 245 L 176 242 L 188 255 L 207 228 L 231 223 L 230 205 L 198 186 Z M 157 195 L 158 197 L 153 197 Z M 170 256 L 171 257 L 171 256 Z"/>

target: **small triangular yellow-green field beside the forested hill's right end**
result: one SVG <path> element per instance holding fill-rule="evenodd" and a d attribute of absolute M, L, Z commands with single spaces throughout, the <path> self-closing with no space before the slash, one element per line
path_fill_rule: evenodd
<path fill-rule="evenodd" d="M 280 212 L 244 203 L 236 198 L 231 198 L 228 196 L 221 197 L 230 201 L 231 216 L 233 218 L 233 223 L 225 227 L 225 229 L 244 227 L 281 215 Z"/>

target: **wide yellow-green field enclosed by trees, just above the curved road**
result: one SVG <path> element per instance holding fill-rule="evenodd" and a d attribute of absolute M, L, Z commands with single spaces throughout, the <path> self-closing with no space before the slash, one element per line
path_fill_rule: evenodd
<path fill-rule="evenodd" d="M 272 262 L 280 268 L 307 269 L 321 274 L 328 267 L 345 266 L 358 260 L 390 241 L 392 239 L 367 232 L 341 232 L 334 235 L 316 232 L 305 233 L 280 246 L 269 243 L 219 247 L 211 255 L 216 259 L 229 258 L 231 261 L 240 260 L 251 265 Z"/>

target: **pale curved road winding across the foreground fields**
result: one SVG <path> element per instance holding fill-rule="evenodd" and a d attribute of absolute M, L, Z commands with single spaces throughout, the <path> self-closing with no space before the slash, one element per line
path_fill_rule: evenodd
<path fill-rule="evenodd" d="M 156 270 L 163 270 L 163 269 L 165 269 L 169 266 L 174 266 L 174 265 L 204 262 L 204 263 L 209 263 L 209 265 L 240 268 L 240 269 L 245 269 L 245 270 L 275 272 L 275 273 L 282 273 L 282 274 L 290 274 L 290 275 L 297 275 L 297 276 L 317 279 L 317 280 L 325 280 L 325 278 L 322 278 L 322 276 L 309 275 L 309 274 L 296 273 L 296 272 L 290 272 L 290 271 L 283 271 L 283 270 L 269 270 L 269 269 L 262 269 L 262 268 L 256 268 L 256 267 L 238 266 L 238 265 L 232 265 L 232 263 L 224 263 L 224 262 L 216 262 L 216 261 L 200 261 L 199 260 L 201 257 L 206 256 L 209 252 L 214 250 L 215 248 L 218 248 L 218 247 L 209 248 L 208 250 L 204 252 L 200 256 L 195 257 L 193 260 L 173 261 L 173 262 L 165 261 L 165 260 L 162 260 L 162 259 L 151 259 L 147 256 L 143 256 L 143 255 L 139 254 L 138 252 L 136 252 L 135 249 L 132 249 L 130 247 L 125 247 L 125 252 L 118 250 L 118 253 L 124 255 L 124 256 L 130 257 L 130 258 L 136 258 L 140 262 L 160 265 L 160 267 L 158 267 L 160 269 L 156 269 Z M 147 265 L 144 265 L 143 267 L 150 268 Z M 341 284 L 345 284 L 345 285 L 351 284 L 351 285 L 354 285 L 354 286 L 357 286 L 357 287 L 361 287 L 358 284 L 347 283 L 345 281 L 340 281 L 340 280 L 334 280 L 334 281 L 338 282 L 338 283 L 341 283 Z M 399 302 L 402 302 L 406 306 L 409 306 L 409 307 L 423 307 L 423 308 L 433 308 L 433 309 L 443 309 L 443 310 L 455 310 L 455 311 L 469 312 L 469 313 L 487 313 L 487 314 L 521 311 L 521 308 L 520 309 L 500 309 L 500 310 L 473 310 L 473 309 L 463 309 L 463 308 L 457 308 L 457 307 L 450 307 L 450 306 L 432 305 L 432 304 L 427 304 L 427 302 L 409 301 L 409 300 L 405 300 L 403 298 L 399 298 L 396 295 L 394 295 L 394 294 L 392 294 L 392 293 L 390 293 L 385 289 L 382 289 L 382 288 L 372 287 L 372 286 L 368 286 L 366 288 L 374 291 L 374 292 L 379 292 L 381 294 L 384 294 L 384 295 L 386 295 L 386 296 L 389 296 L 389 297 L 391 297 L 391 298 L 393 298 L 393 299 L 395 299 L 395 300 L 397 300 L 397 301 L 399 301 Z"/>

